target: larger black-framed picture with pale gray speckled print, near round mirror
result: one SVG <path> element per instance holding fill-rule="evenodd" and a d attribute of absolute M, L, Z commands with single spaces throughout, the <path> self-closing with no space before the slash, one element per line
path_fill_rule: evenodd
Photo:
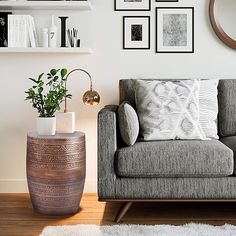
<path fill-rule="evenodd" d="M 194 52 L 194 8 L 156 8 L 156 52 Z"/>

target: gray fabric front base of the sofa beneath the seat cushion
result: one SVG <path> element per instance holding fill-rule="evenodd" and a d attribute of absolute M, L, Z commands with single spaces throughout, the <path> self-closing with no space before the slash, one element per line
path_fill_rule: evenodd
<path fill-rule="evenodd" d="M 232 199 L 236 178 L 118 178 L 116 199 Z"/>

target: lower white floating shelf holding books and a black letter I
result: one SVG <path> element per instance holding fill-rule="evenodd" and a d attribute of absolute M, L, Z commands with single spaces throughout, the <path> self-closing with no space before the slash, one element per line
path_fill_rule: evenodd
<path fill-rule="evenodd" d="M 64 54 L 91 54 L 91 48 L 0 48 L 1 53 L 64 53 Z"/>

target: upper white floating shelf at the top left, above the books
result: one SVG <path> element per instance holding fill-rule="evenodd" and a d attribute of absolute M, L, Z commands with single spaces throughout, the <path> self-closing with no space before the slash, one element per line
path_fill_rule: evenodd
<path fill-rule="evenodd" d="M 0 10 L 92 10 L 89 1 L 0 1 Z"/>

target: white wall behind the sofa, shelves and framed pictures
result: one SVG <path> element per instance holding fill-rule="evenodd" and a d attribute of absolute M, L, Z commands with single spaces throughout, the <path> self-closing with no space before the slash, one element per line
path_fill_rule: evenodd
<path fill-rule="evenodd" d="M 179 3 L 155 3 L 151 12 L 114 12 L 113 0 L 93 0 L 92 12 L 71 16 L 71 25 L 80 28 L 85 46 L 93 47 L 92 55 L 0 55 L 0 192 L 25 192 L 26 133 L 35 129 L 36 113 L 24 101 L 24 91 L 30 86 L 29 76 L 37 76 L 50 68 L 85 68 L 93 75 L 101 94 L 101 104 L 87 107 L 81 96 L 88 81 L 76 78 L 70 84 L 74 96 L 70 109 L 77 112 L 77 129 L 87 137 L 86 191 L 96 191 L 96 117 L 105 104 L 118 102 L 120 78 L 234 78 L 236 52 L 224 46 L 214 35 L 208 19 L 205 0 L 179 0 Z M 155 6 L 195 7 L 195 53 L 155 53 Z M 39 25 L 49 22 L 46 13 L 39 12 Z M 63 12 L 60 15 L 67 15 Z M 122 16 L 151 16 L 151 50 L 122 50 Z M 76 75 L 75 75 L 76 77 Z"/>

